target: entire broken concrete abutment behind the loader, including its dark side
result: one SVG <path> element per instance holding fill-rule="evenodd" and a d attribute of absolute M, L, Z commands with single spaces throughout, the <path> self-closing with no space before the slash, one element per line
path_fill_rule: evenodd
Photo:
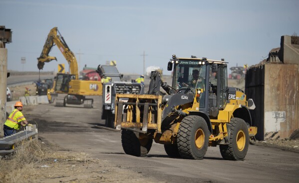
<path fill-rule="evenodd" d="M 281 48 L 272 49 L 267 60 L 247 71 L 245 92 L 257 106 L 251 115 L 258 140 L 268 132 L 286 138 L 299 128 L 299 38 L 294 38 L 297 44 L 291 36 L 282 36 Z"/>

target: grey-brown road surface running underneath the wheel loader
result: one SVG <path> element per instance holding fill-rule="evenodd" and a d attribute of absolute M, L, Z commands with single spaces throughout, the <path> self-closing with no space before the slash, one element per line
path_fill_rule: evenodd
<path fill-rule="evenodd" d="M 99 97 L 94 99 L 94 108 L 91 109 L 40 104 L 27 106 L 23 112 L 29 121 L 37 122 L 42 140 L 105 162 L 100 167 L 90 165 L 93 171 L 84 169 L 72 174 L 72 169 L 63 169 L 63 173 L 60 172 L 62 175 L 72 175 L 72 180 L 84 180 L 81 174 L 86 176 L 91 172 L 103 175 L 101 171 L 104 171 L 105 180 L 110 182 L 298 182 L 298 153 L 263 146 L 250 145 L 244 161 L 223 160 L 218 147 L 209 147 L 203 160 L 173 159 L 167 156 L 163 145 L 156 143 L 147 157 L 126 155 L 122 150 L 120 132 L 93 128 L 94 125 L 104 124 L 100 120 Z"/>

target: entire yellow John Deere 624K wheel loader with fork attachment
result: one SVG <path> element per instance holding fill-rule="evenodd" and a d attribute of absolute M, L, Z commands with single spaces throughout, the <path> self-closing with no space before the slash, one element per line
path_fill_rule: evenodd
<path fill-rule="evenodd" d="M 116 94 L 114 127 L 124 152 L 145 156 L 154 140 L 170 157 L 199 160 L 219 145 L 224 159 L 243 160 L 257 133 L 249 112 L 255 105 L 227 86 L 227 62 L 173 55 L 167 69 L 171 86 L 152 72 L 147 94 Z"/>

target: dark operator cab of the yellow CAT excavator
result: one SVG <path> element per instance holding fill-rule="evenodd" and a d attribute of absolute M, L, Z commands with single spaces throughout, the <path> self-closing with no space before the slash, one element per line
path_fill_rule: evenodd
<path fill-rule="evenodd" d="M 75 79 L 75 75 L 58 73 L 56 75 L 55 91 L 57 93 L 67 93 L 69 82 Z"/>

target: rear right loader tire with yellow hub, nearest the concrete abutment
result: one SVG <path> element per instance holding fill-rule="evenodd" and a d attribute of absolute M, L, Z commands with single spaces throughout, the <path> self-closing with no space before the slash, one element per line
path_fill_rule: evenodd
<path fill-rule="evenodd" d="M 220 145 L 221 156 L 225 160 L 244 160 L 249 146 L 249 133 L 246 122 L 234 117 L 227 124 L 229 141 L 228 145 Z"/>

